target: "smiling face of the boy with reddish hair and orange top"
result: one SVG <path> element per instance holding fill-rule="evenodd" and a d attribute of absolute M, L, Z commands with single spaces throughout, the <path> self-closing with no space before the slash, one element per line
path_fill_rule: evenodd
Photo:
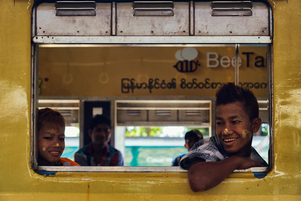
<path fill-rule="evenodd" d="M 65 149 L 65 127 L 39 130 L 39 165 L 55 165 Z"/>

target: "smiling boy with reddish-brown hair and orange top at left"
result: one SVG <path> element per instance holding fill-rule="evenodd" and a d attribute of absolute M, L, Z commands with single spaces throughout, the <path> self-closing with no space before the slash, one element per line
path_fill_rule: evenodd
<path fill-rule="evenodd" d="M 40 166 L 78 166 L 76 162 L 61 158 L 65 149 L 66 121 L 61 113 L 44 108 L 39 110 L 39 158 Z"/>

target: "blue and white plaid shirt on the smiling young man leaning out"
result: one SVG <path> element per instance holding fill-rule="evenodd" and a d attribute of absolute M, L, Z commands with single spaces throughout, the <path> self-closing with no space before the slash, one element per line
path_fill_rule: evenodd
<path fill-rule="evenodd" d="M 204 159 L 207 161 L 221 161 L 228 158 L 228 154 L 225 151 L 222 144 L 219 142 L 217 136 L 208 137 L 198 141 L 190 149 L 180 161 L 180 165 L 183 169 L 188 170 L 189 164 L 195 159 Z M 251 147 L 250 159 L 260 162 L 264 166 L 268 166 L 264 159 L 258 154 L 258 152 Z"/>

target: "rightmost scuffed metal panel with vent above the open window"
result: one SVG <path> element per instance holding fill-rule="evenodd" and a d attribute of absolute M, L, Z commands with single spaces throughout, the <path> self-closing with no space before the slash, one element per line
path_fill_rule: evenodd
<path fill-rule="evenodd" d="M 249 16 L 246 9 L 211 9 L 211 2 L 195 2 L 195 35 L 268 36 L 268 6 L 262 2 L 252 2 L 252 5 Z M 212 16 L 212 12 L 221 12 L 221 15 Z"/>

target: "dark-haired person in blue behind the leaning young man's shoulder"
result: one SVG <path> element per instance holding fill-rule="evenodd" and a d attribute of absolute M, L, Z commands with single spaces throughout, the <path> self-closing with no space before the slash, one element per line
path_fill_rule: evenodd
<path fill-rule="evenodd" d="M 189 151 L 198 141 L 203 140 L 203 134 L 199 130 L 190 130 L 185 134 L 185 148 Z M 173 159 L 171 166 L 180 166 L 180 160 L 186 154 L 178 155 Z"/>

